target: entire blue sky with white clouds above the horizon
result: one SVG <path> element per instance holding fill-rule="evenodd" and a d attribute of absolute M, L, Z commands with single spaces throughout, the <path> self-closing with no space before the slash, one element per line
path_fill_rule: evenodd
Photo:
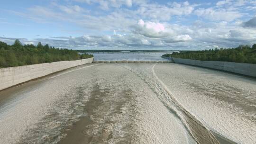
<path fill-rule="evenodd" d="M 256 43 L 256 0 L 0 0 L 0 41 L 68 49 Z"/>

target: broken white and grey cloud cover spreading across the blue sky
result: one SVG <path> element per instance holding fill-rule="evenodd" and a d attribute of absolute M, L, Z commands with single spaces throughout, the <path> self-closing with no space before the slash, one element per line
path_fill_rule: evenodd
<path fill-rule="evenodd" d="M 256 18 L 242 11 L 249 6 L 247 10 L 256 7 L 254 0 L 221 0 L 216 5 L 207 6 L 203 3 L 190 4 L 188 1 L 167 4 L 146 0 L 66 1 L 62 4 L 55 1 L 48 7 L 34 6 L 27 11 L 12 13 L 40 23 L 53 23 L 61 30 L 66 30 L 62 24 L 73 24 L 76 26 L 76 31 L 72 31 L 75 36 L 66 33 L 70 37 L 21 39 L 21 42 L 37 44 L 41 41 L 43 44 L 78 49 L 204 49 L 256 43 Z M 93 8 L 90 7 L 92 5 Z M 94 6 L 101 9 L 94 9 Z M 194 14 L 198 19 L 192 17 Z M 253 18 L 244 22 L 249 16 Z M 0 40 L 12 43 L 14 38 L 0 37 Z"/>

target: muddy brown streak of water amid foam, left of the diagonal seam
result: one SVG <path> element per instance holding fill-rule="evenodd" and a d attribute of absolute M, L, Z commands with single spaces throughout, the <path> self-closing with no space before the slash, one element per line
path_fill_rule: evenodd
<path fill-rule="evenodd" d="M 100 89 L 95 85 L 91 97 L 86 102 L 84 111 L 86 117 L 81 117 L 67 130 L 67 136 L 58 144 L 108 144 L 115 133 L 115 123 L 111 117 L 122 115 L 122 108 L 132 99 L 132 90 L 123 90 L 118 96 L 112 96 L 110 90 Z M 127 131 L 123 137 L 114 139 L 119 144 L 131 144 L 131 126 L 125 124 L 122 130 Z M 95 129 L 99 129 L 95 131 Z"/>

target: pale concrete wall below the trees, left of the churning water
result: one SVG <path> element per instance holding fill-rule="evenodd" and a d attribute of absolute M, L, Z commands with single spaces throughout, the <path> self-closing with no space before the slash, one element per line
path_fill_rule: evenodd
<path fill-rule="evenodd" d="M 53 63 L 40 63 L 32 65 L 24 65 L 17 67 L 0 69 L 0 90 L 9 88 L 19 83 L 33 80 L 53 72 L 58 72 L 74 66 L 85 63 L 92 63 L 93 58 L 76 60 L 76 61 L 60 61 Z"/>

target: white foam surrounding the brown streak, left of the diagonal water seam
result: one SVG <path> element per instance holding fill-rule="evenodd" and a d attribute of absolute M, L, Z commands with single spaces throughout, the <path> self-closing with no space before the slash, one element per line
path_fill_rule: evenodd
<path fill-rule="evenodd" d="M 88 69 L 73 69 L 16 91 L 13 95 L 17 99 L 0 109 L 0 144 L 26 141 L 57 143 L 65 136 L 64 128 L 85 115 L 83 104 L 96 84 L 103 89 L 113 88 L 109 94 L 113 99 L 118 96 L 115 91 L 130 89 L 135 95 L 121 108 L 123 114 L 110 117 L 117 121 L 113 127 L 109 127 L 114 131 L 111 142 L 118 143 L 115 140 L 126 135 L 124 127 L 130 123 L 134 144 L 195 144 L 179 117 L 168 109 L 172 105 L 167 108 L 159 100 L 168 94 L 160 85 L 150 83 L 155 81 L 152 78 L 152 65 L 127 68 L 101 64 Z M 80 92 L 83 97 L 80 97 Z M 93 116 L 91 118 L 94 120 Z M 97 132 L 99 128 L 96 126 L 92 132 Z"/>

